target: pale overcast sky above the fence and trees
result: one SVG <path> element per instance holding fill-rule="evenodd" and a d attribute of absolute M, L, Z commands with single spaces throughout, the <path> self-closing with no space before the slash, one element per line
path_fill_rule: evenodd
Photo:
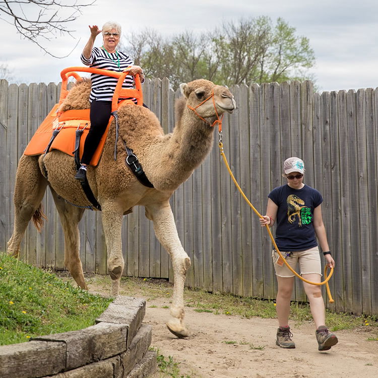
<path fill-rule="evenodd" d="M 164 36 L 184 31 L 202 33 L 222 22 L 259 16 L 269 16 L 274 24 L 282 17 L 296 29 L 297 36 L 309 39 L 316 56 L 316 67 L 310 72 L 320 91 L 378 87 L 377 0 L 97 0 L 70 24 L 76 39 L 56 37 L 45 45 L 62 56 L 79 41 L 71 55 L 63 59 L 45 54 L 37 45 L 21 39 L 12 25 L 0 20 L 0 64 L 7 64 L 18 82 L 57 83 L 62 69 L 82 66 L 80 54 L 89 38 L 88 25 L 101 27 L 108 20 L 117 21 L 125 41 L 128 30 L 150 28 Z M 95 45 L 101 45 L 100 36 Z"/>

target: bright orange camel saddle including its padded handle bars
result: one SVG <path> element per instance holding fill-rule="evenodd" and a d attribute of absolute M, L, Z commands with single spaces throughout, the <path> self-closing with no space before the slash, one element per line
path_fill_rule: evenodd
<path fill-rule="evenodd" d="M 75 71 L 91 72 L 96 74 L 98 73 L 101 75 L 107 75 L 118 78 L 118 82 L 115 87 L 112 99 L 112 112 L 117 110 L 118 106 L 121 104 L 131 103 L 134 105 L 134 102 L 131 100 L 122 100 L 118 102 L 119 97 L 135 97 L 137 99 L 137 105 L 143 105 L 143 94 L 139 75 L 135 77 L 135 89 L 122 89 L 122 83 L 125 77 L 129 74 L 128 72 L 119 73 L 88 67 L 67 68 L 60 73 L 60 76 L 62 78 L 62 85 L 60 90 L 59 103 L 54 105 L 54 107 L 47 114 L 43 122 L 39 125 L 39 128 L 37 129 L 29 144 L 27 145 L 24 151 L 24 155 L 41 155 L 45 153 L 53 136 L 53 132 L 56 131 L 57 135 L 53 139 L 49 151 L 51 151 L 51 149 L 56 149 L 68 155 L 74 156 L 76 131 L 82 130 L 83 132 L 82 137 L 80 139 L 79 147 L 79 156 L 81 158 L 84 150 L 84 142 L 90 128 L 89 109 L 67 110 L 60 114 L 57 112 L 60 104 L 64 101 L 68 94 L 67 81 L 69 76 L 74 76 L 76 80 L 82 80 L 82 78 L 79 75 L 77 75 Z M 92 157 L 90 164 L 93 166 L 96 166 L 100 160 L 101 153 L 108 134 L 109 126 L 113 118 L 113 116 L 110 117 L 105 133 L 102 136 L 100 143 Z"/>

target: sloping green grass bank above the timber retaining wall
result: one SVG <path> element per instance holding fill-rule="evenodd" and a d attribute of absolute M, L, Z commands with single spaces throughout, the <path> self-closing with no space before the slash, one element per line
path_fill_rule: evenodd
<path fill-rule="evenodd" d="M 111 300 L 0 254 L 0 345 L 93 326 Z"/>

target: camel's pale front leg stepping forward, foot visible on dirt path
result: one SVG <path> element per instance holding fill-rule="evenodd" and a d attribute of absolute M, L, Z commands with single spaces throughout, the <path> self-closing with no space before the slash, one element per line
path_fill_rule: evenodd
<path fill-rule="evenodd" d="M 170 332 L 177 337 L 187 337 L 188 331 L 184 324 L 184 284 L 186 272 L 191 266 L 178 238 L 176 224 L 169 202 L 161 206 L 146 206 L 146 216 L 154 222 L 156 237 L 171 257 L 173 267 L 173 298 L 170 308 L 171 318 L 166 323 Z"/>

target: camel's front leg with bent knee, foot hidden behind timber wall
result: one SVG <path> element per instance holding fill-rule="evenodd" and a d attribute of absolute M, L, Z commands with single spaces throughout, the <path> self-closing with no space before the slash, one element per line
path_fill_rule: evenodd
<path fill-rule="evenodd" d="M 107 266 L 111 278 L 111 296 L 117 296 L 124 268 L 121 234 L 123 213 L 117 210 L 114 203 L 106 203 L 101 205 L 101 208 L 102 227 L 105 233 L 108 255 Z"/>

